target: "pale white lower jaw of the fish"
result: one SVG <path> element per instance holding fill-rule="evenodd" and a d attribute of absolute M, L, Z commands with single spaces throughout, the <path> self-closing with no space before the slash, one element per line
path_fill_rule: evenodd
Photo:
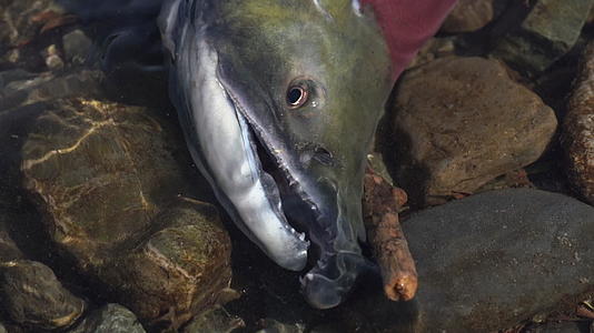
<path fill-rule="evenodd" d="M 278 265 L 300 271 L 309 242 L 286 220 L 249 125 L 217 77 L 217 52 L 192 29 L 181 30 L 170 69 L 170 95 L 192 159 L 238 228 Z"/>

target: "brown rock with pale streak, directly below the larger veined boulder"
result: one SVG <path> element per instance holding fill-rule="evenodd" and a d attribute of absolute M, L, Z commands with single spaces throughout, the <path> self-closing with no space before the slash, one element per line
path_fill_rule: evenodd
<path fill-rule="evenodd" d="M 180 203 L 154 224 L 162 229 L 103 264 L 98 275 L 139 317 L 179 327 L 221 302 L 231 280 L 230 241 L 216 210 L 205 203 Z"/>

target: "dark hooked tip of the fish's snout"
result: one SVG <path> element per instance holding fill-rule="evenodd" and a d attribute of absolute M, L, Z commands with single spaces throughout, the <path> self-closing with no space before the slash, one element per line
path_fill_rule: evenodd
<path fill-rule="evenodd" d="M 360 253 L 338 252 L 326 256 L 301 279 L 303 294 L 316 309 L 335 307 L 347 297 L 357 276 L 368 266 Z"/>

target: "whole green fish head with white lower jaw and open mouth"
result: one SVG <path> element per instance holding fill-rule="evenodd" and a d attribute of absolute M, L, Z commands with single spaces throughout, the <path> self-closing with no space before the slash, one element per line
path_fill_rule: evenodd
<path fill-rule="evenodd" d="M 309 262 L 303 293 L 319 309 L 369 265 L 365 157 L 393 83 L 383 34 L 356 2 L 168 0 L 159 17 L 198 168 L 271 260 Z"/>

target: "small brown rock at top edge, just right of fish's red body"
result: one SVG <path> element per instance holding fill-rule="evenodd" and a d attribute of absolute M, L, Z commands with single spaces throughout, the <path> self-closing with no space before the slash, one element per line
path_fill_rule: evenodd
<path fill-rule="evenodd" d="M 493 20 L 495 0 L 459 0 L 444 21 L 442 31 L 447 33 L 471 32 Z"/>

